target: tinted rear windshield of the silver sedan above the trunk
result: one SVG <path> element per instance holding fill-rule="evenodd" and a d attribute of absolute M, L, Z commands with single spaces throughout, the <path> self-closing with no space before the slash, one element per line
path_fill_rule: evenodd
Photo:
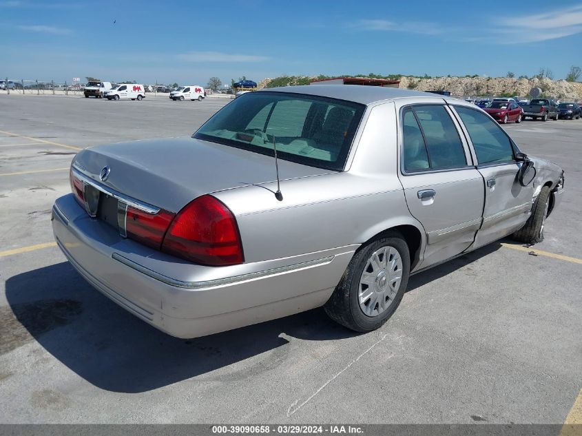
<path fill-rule="evenodd" d="M 202 125 L 194 138 L 312 167 L 344 169 L 364 105 L 319 96 L 249 92 Z"/>

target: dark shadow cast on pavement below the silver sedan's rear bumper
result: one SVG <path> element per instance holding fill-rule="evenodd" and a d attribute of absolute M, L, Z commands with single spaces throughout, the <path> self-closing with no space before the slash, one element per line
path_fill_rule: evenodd
<path fill-rule="evenodd" d="M 0 353 L 36 340 L 87 382 L 123 393 L 151 391 L 249 358 L 226 377 L 268 371 L 285 364 L 286 336 L 337 340 L 358 334 L 314 309 L 203 338 L 173 338 L 93 289 L 68 262 L 9 278 L 6 298 Z"/>

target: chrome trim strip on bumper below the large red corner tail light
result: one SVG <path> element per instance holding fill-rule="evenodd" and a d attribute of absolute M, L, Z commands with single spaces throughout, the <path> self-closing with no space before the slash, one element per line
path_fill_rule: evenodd
<path fill-rule="evenodd" d="M 247 273 L 247 274 L 240 274 L 240 276 L 233 276 L 227 278 L 219 278 L 216 280 L 205 280 L 202 282 L 184 282 L 182 280 L 176 280 L 174 278 L 164 276 L 152 269 L 146 268 L 141 264 L 134 262 L 133 260 L 129 260 L 125 256 L 121 256 L 119 253 L 113 253 L 111 255 L 112 258 L 121 262 L 127 267 L 133 268 L 136 271 L 139 271 L 146 276 L 151 278 L 155 278 L 160 282 L 165 284 L 169 284 L 170 286 L 178 287 L 178 288 L 186 288 L 186 289 L 202 289 L 202 288 L 212 288 L 212 287 L 219 287 L 225 286 L 227 284 L 234 284 L 238 282 L 244 282 L 246 280 L 252 280 L 255 278 L 265 278 L 268 276 L 274 276 L 280 273 L 288 273 L 290 271 L 298 271 L 300 269 L 305 269 L 309 267 L 318 267 L 320 265 L 329 264 L 335 256 L 328 256 L 326 258 L 315 259 L 315 260 L 308 260 L 307 262 L 296 263 L 292 265 L 287 265 L 287 267 L 278 267 L 273 269 L 266 269 L 264 271 L 257 271 L 256 273 Z"/>

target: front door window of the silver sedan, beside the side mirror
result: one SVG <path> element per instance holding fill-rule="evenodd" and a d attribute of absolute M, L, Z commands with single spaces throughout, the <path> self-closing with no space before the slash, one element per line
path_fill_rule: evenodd
<path fill-rule="evenodd" d="M 514 160 L 511 141 L 495 121 L 468 107 L 456 106 L 455 110 L 469 132 L 479 165 Z"/>

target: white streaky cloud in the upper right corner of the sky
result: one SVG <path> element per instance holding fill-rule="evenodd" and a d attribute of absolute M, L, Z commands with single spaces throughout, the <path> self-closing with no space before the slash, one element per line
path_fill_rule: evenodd
<path fill-rule="evenodd" d="M 582 5 L 539 14 L 503 17 L 491 28 L 492 37 L 479 38 L 502 44 L 534 43 L 582 32 Z"/>

